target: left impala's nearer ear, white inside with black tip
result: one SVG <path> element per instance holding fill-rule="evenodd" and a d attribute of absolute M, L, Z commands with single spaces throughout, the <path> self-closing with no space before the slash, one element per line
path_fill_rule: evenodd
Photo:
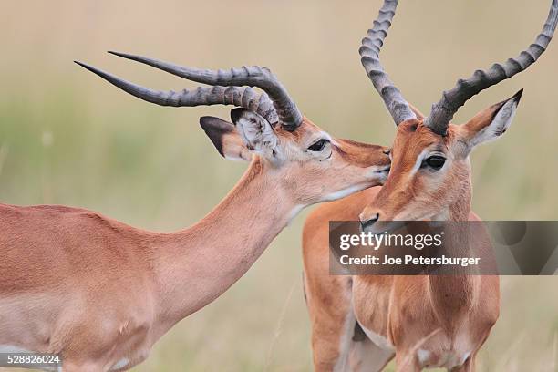
<path fill-rule="evenodd" d="M 277 136 L 269 121 L 253 110 L 243 108 L 231 110 L 231 119 L 248 150 L 274 156 Z"/>

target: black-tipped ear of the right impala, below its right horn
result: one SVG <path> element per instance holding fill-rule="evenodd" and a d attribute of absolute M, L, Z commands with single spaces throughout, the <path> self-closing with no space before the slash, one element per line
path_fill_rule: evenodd
<path fill-rule="evenodd" d="M 510 128 L 522 93 L 523 89 L 513 97 L 483 109 L 467 124 L 460 126 L 460 133 L 468 150 L 480 143 L 496 140 Z"/>

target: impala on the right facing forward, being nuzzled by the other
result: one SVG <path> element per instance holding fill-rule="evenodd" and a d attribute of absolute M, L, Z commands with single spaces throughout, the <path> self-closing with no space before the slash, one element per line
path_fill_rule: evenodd
<path fill-rule="evenodd" d="M 328 221 L 360 218 L 366 231 L 377 222 L 395 220 L 478 220 L 470 212 L 470 151 L 509 128 L 522 91 L 465 125 L 449 121 L 473 95 L 541 56 L 558 22 L 558 0 L 534 44 L 517 58 L 460 79 L 426 119 L 408 105 L 379 61 L 397 3 L 384 2 L 360 48 L 367 75 L 398 125 L 387 181 L 379 191 L 369 189 L 319 207 L 305 223 L 305 292 L 319 371 L 379 371 L 394 356 L 399 371 L 473 371 L 499 315 L 497 276 L 329 275 Z M 482 237 L 473 242 L 484 243 Z"/>

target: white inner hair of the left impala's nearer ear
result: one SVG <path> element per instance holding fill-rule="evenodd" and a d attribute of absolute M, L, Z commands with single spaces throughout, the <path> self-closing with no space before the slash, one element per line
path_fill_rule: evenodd
<path fill-rule="evenodd" d="M 245 111 L 236 125 L 249 149 L 273 150 L 277 146 L 277 136 L 271 124 L 255 112 Z"/>

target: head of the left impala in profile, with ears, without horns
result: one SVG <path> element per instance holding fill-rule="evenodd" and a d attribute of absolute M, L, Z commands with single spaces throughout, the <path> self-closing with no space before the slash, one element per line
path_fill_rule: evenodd
<path fill-rule="evenodd" d="M 339 199 L 387 179 L 385 147 L 334 139 L 308 119 L 294 131 L 250 109 L 233 109 L 231 119 L 234 124 L 212 117 L 200 123 L 223 157 L 260 161 L 300 205 Z"/>

